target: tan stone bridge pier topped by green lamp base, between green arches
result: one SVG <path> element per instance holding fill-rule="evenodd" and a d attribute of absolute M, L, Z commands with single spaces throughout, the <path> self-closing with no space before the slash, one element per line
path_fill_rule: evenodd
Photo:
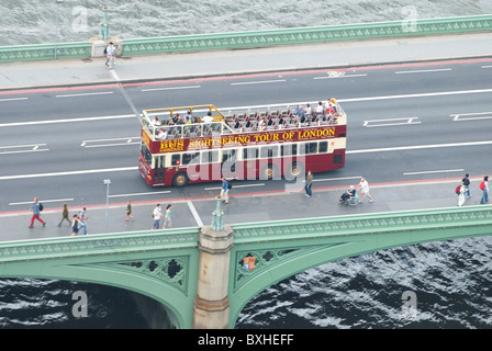
<path fill-rule="evenodd" d="M 221 200 L 216 197 L 213 227 L 201 227 L 198 236 L 200 263 L 193 303 L 193 329 L 228 328 L 227 287 L 234 233 L 231 226 L 222 225 Z M 217 215 L 221 216 L 220 223 Z"/>

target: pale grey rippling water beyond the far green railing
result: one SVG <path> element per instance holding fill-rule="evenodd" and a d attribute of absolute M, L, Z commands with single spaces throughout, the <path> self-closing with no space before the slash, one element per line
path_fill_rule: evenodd
<path fill-rule="evenodd" d="M 87 41 L 103 5 L 121 38 L 492 13 L 490 0 L 2 0 L 0 46 Z"/>

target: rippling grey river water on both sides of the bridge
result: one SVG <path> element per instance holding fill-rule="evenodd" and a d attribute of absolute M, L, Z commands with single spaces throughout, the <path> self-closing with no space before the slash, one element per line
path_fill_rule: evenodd
<path fill-rule="evenodd" d="M 121 38 L 492 13 L 490 0 L 2 0 L 0 46 L 87 41 L 102 7 Z M 57 23 L 57 24 L 56 24 Z M 58 32 L 56 31 L 58 27 Z M 250 301 L 238 329 L 492 328 L 492 237 L 388 249 L 327 263 Z M 89 298 L 72 316 L 72 293 Z M 416 308 L 404 308 L 411 292 Z M 148 328 L 125 291 L 56 280 L 0 280 L 0 328 Z"/>

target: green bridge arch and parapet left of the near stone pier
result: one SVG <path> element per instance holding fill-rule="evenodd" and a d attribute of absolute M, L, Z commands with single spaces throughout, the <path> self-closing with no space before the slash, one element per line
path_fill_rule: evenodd
<path fill-rule="evenodd" d="M 121 287 L 160 303 L 178 326 L 189 329 L 198 281 L 198 233 L 199 228 L 183 228 L 169 234 L 135 231 L 3 242 L 0 276 Z"/>

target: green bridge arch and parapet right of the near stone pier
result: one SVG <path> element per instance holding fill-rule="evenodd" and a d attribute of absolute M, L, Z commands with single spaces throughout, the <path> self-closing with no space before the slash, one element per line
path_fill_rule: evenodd
<path fill-rule="evenodd" d="M 490 236 L 492 206 L 248 223 L 233 228 L 230 328 L 259 292 L 323 263 L 393 247 Z"/>

